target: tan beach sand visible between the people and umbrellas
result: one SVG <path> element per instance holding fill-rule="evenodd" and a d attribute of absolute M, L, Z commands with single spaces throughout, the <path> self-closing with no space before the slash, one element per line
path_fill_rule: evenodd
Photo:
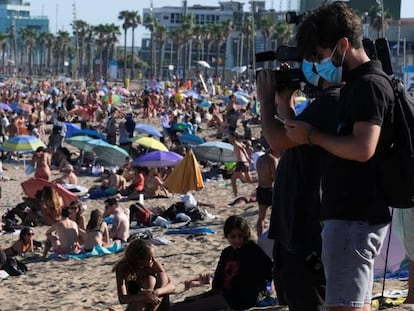
<path fill-rule="evenodd" d="M 260 130 L 259 126 L 256 126 L 255 130 L 257 133 Z M 205 131 L 204 135 L 211 133 Z M 0 183 L 2 213 L 22 202 L 23 192 L 20 183 L 28 178 L 24 173 L 22 161 L 5 162 L 4 167 L 7 169 L 4 175 L 10 180 Z M 59 175 L 56 171 L 53 174 Z M 78 183 L 89 188 L 96 184 L 95 179 L 91 176 L 80 176 Z M 256 186 L 243 183 L 238 185 L 239 195 L 245 197 L 248 197 Z M 214 218 L 199 223 L 201 226 L 215 230 L 215 234 L 165 235 L 166 229 L 159 227 L 153 231 L 154 237 L 162 236 L 171 242 L 169 245 L 155 246 L 155 252 L 176 284 L 176 293 L 170 297 L 172 302 L 181 301 L 186 296 L 201 293 L 209 288 L 209 285 L 204 285 L 186 291 L 184 281 L 197 277 L 200 273 L 214 272 L 221 250 L 228 246 L 222 230 L 224 220 L 228 216 L 237 214 L 245 217 L 251 225 L 253 239 L 257 239 L 255 235 L 257 203 L 228 206 L 228 203 L 234 200 L 229 180 L 207 181 L 204 189 L 192 194 L 197 201 L 215 205 L 215 208 L 206 208 Z M 179 195 L 173 195 L 168 199 L 145 200 L 145 205 L 150 208 L 168 207 L 179 200 Z M 87 219 L 93 209 L 104 209 L 102 199 L 87 200 L 86 204 Z M 120 203 L 124 208 L 128 208 L 130 204 L 131 201 Z M 46 226 L 33 228 L 36 233 L 35 239 L 44 242 L 47 228 Z M 17 239 L 17 234 L 4 234 L 0 237 L 0 245 L 5 247 Z M 125 306 L 118 302 L 115 275 L 111 271 L 121 256 L 122 253 L 87 259 L 37 258 L 27 264 L 29 271 L 25 275 L 0 281 L 0 310 L 125 310 Z M 387 281 L 386 288 L 406 288 L 406 282 Z M 374 292 L 380 291 L 381 283 L 376 283 Z"/>

